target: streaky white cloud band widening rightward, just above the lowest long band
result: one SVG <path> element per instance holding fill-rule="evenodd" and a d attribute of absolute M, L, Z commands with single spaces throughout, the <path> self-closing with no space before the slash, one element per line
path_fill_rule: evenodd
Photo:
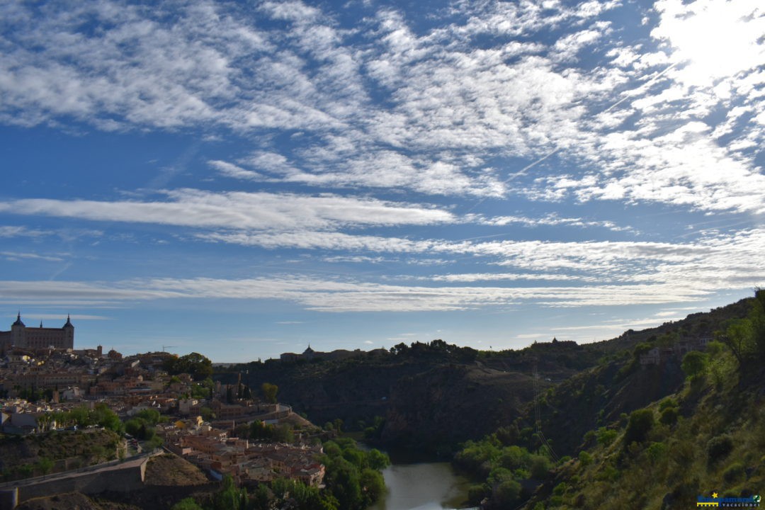
<path fill-rule="evenodd" d="M 590 283 L 685 286 L 700 291 L 728 286 L 749 288 L 760 281 L 765 231 L 752 229 L 728 236 L 713 234 L 695 242 L 453 242 L 353 236 L 344 232 L 248 232 L 200 234 L 202 239 L 265 248 L 330 249 L 410 255 L 471 255 L 476 261 L 505 268 L 505 273 L 431 275 L 432 281 L 553 280 Z M 367 255 L 369 256 L 369 255 Z M 512 269 L 512 271 L 508 271 Z M 657 288 L 659 288 L 657 287 Z M 662 290 L 663 291 L 663 290 Z"/>

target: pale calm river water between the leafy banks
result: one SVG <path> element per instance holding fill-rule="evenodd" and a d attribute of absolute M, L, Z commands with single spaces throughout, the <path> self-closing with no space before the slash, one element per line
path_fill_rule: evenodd
<path fill-rule="evenodd" d="M 449 463 L 393 464 L 382 476 L 388 493 L 370 510 L 464 508 L 470 486 Z"/>

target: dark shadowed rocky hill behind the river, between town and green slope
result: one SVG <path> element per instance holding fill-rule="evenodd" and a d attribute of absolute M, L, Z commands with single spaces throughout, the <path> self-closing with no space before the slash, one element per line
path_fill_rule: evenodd
<path fill-rule="evenodd" d="M 446 453 L 512 424 L 533 399 L 532 367 L 544 389 L 591 366 L 597 352 L 575 343 L 540 343 L 522 351 L 487 353 L 441 341 L 397 346 L 394 352 L 321 362 L 241 365 L 217 375 L 233 384 L 239 371 L 253 390 L 278 385 L 279 401 L 304 412 L 315 424 L 340 418 L 345 430 L 360 430 L 384 417 L 382 443 Z M 581 365 L 581 366 L 580 366 Z"/>

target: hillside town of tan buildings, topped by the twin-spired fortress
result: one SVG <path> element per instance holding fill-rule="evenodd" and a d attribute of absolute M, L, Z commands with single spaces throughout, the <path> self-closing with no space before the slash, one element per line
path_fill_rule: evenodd
<path fill-rule="evenodd" d="M 45 329 L 45 328 L 42 328 Z M 178 356 L 149 352 L 122 356 L 115 350 L 73 348 L 73 326 L 67 317 L 60 329 L 69 343 L 57 340 L 57 329 L 45 331 L 50 345 L 37 341 L 40 328 L 24 326 L 17 317 L 0 344 L 0 431 L 2 434 L 40 434 L 64 430 L 59 423 L 67 411 L 106 405 L 122 421 L 154 412 L 160 417 L 151 446 L 167 450 L 199 466 L 213 479 L 230 475 L 241 484 L 295 479 L 321 486 L 324 466 L 321 430 L 278 404 L 238 385 L 213 383 L 207 371 L 178 372 Z M 62 336 L 62 335 L 59 335 Z M 30 341 L 29 339 L 33 339 Z M 203 359 L 192 354 L 187 358 Z M 203 359 L 209 364 L 209 360 Z M 202 365 L 204 367 L 204 365 Z M 168 371 L 168 368 L 174 370 Z M 252 442 L 248 427 L 281 427 L 290 437 L 265 437 Z M 69 425 L 76 430 L 77 425 Z M 243 438 L 234 437 L 235 430 Z M 242 432 L 244 432 L 242 434 Z M 126 453 L 139 453 L 146 442 L 125 434 Z M 288 440 L 287 440 L 288 439 Z"/>

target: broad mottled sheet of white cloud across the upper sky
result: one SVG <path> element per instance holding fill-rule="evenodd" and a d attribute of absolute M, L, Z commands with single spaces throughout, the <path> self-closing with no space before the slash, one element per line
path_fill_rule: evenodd
<path fill-rule="evenodd" d="M 657 2 L 644 30 L 659 49 L 604 37 L 614 21 L 599 17 L 619 2 L 457 2 L 419 33 L 390 8 L 352 27 L 302 2 L 174 8 L 8 5 L 0 122 L 212 125 L 260 146 L 210 161 L 226 177 L 447 196 L 562 200 L 560 187 L 503 182 L 525 163 L 485 163 L 555 150 L 588 162 L 574 177 L 595 180 L 572 190 L 581 200 L 762 210 L 765 18 L 751 2 Z M 583 60 L 601 45 L 600 65 Z M 720 107 L 728 118 L 711 125 Z M 708 129 L 692 129 L 699 122 Z M 275 133 L 298 138 L 277 146 Z M 709 180 L 699 167 L 723 170 Z"/>

